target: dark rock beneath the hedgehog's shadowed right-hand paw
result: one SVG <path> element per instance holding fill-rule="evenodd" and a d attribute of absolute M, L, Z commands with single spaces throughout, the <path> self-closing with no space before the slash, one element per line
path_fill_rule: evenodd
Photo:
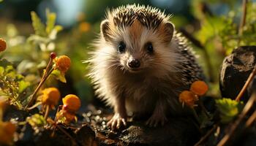
<path fill-rule="evenodd" d="M 124 145 L 194 145 L 200 139 L 197 126 L 189 118 L 170 118 L 165 126 L 148 127 L 136 123 L 119 137 Z"/>

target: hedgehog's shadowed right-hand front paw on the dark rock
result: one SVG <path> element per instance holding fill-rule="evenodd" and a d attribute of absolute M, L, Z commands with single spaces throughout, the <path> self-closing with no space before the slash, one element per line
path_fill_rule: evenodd
<path fill-rule="evenodd" d="M 156 127 L 157 125 L 161 124 L 162 126 L 167 122 L 167 118 L 165 115 L 156 115 L 153 114 L 151 117 L 146 121 L 147 126 L 154 126 Z"/>

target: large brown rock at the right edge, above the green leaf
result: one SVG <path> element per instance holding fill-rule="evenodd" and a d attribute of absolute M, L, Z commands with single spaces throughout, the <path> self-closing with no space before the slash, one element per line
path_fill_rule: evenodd
<path fill-rule="evenodd" d="M 249 74 L 252 72 L 256 63 L 256 46 L 243 46 L 233 50 L 223 63 L 220 72 L 220 91 L 222 97 L 236 99 L 239 91 L 243 88 Z M 254 81 L 255 82 L 255 81 Z M 254 86 L 253 86 L 254 85 Z M 243 100 L 247 100 L 252 92 L 253 83 L 248 91 L 244 93 Z"/>

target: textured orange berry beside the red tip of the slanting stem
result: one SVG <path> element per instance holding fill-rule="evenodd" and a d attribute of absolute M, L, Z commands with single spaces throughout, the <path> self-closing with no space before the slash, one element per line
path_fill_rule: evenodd
<path fill-rule="evenodd" d="M 59 69 L 61 72 L 67 72 L 70 67 L 71 60 L 67 55 L 61 55 L 55 59 L 56 61 L 56 69 Z"/>

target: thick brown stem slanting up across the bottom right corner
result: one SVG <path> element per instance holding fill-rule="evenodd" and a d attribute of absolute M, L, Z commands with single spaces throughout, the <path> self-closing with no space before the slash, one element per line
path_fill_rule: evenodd
<path fill-rule="evenodd" d="M 244 106 L 243 111 L 238 116 L 238 119 L 233 123 L 233 126 L 228 128 L 229 132 L 225 134 L 225 136 L 219 141 L 217 146 L 225 145 L 225 143 L 232 137 L 233 133 L 236 131 L 236 128 L 241 123 L 241 121 L 244 119 L 245 115 L 249 112 L 249 110 L 253 107 L 256 100 L 256 93 L 253 93 L 252 96 L 249 98 L 249 101 L 247 101 L 246 105 Z"/>

